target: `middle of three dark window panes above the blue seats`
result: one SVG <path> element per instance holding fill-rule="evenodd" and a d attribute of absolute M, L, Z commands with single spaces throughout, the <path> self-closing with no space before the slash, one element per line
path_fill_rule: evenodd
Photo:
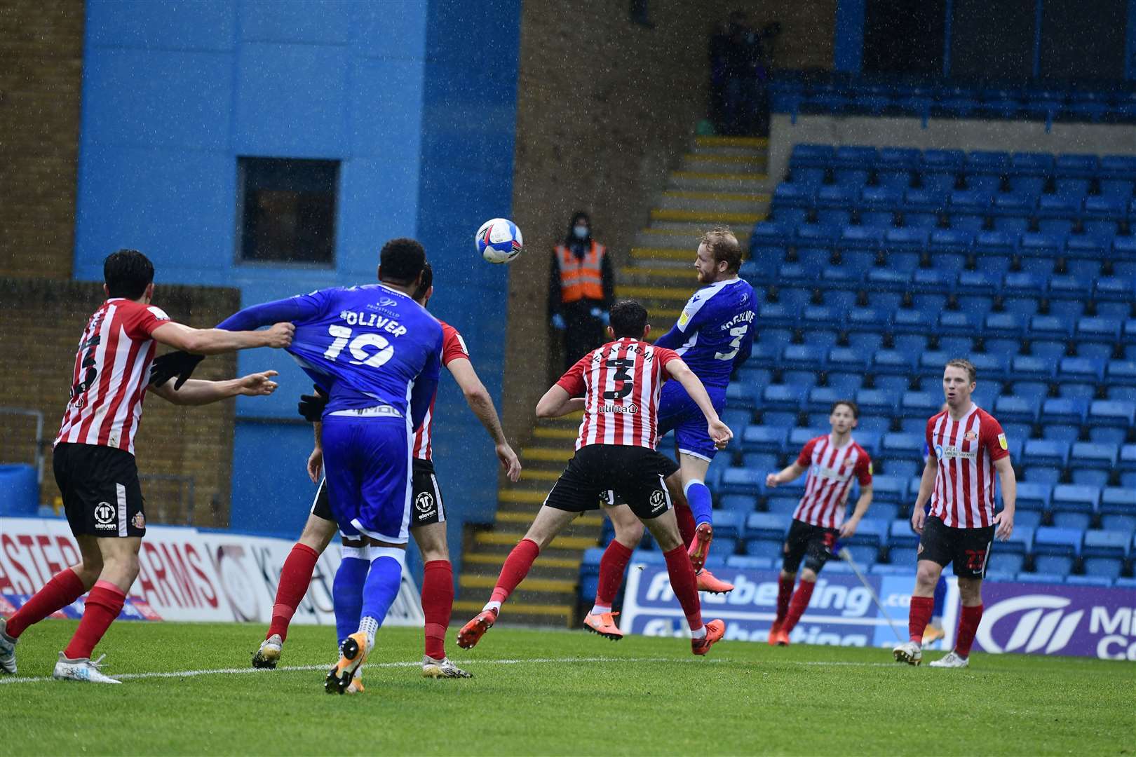
<path fill-rule="evenodd" d="M 1036 12 L 1033 0 L 954 0 L 951 76 L 1031 77 Z"/>

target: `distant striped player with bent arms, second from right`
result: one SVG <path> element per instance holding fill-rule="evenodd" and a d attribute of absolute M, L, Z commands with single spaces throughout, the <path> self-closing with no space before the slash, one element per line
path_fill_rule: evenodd
<path fill-rule="evenodd" d="M 804 496 L 793 513 L 793 523 L 785 537 L 777 617 L 769 629 L 771 645 L 788 646 L 788 634 L 812 598 L 817 573 L 833 556 L 833 545 L 837 538 L 855 533 L 860 520 L 871 506 L 871 459 L 852 438 L 852 429 L 859 419 L 860 409 L 854 402 L 842 399 L 834 403 L 828 414 L 832 434 L 809 439 L 792 465 L 766 477 L 766 487 L 772 489 L 809 472 Z M 860 483 L 860 498 L 852 518 L 845 521 L 845 503 L 853 478 Z M 801 584 L 793 591 L 802 560 Z"/>

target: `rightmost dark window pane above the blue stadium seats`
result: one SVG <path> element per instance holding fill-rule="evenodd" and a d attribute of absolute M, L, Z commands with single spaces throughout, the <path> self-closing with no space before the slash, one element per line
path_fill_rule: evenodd
<path fill-rule="evenodd" d="M 1042 77 L 1122 79 L 1127 5 L 1127 0 L 1045 0 Z"/>

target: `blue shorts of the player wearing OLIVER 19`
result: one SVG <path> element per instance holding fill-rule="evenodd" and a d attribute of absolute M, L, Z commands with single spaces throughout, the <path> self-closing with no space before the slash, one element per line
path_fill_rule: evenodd
<path fill-rule="evenodd" d="M 324 469 L 340 535 L 406 544 L 411 465 L 402 418 L 324 417 Z"/>

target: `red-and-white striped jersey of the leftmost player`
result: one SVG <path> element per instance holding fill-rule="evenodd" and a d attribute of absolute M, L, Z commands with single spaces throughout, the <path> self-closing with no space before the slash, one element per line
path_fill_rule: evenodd
<path fill-rule="evenodd" d="M 150 363 L 150 335 L 169 321 L 160 308 L 111 297 L 94 311 L 75 354 L 70 399 L 56 444 L 93 444 L 134 454 Z"/>

